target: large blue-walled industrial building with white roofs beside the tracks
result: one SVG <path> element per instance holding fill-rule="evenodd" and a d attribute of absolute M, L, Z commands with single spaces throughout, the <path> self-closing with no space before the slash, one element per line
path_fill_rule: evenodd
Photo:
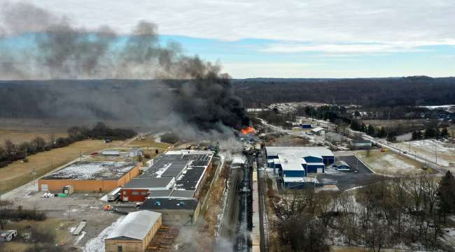
<path fill-rule="evenodd" d="M 330 149 L 325 147 L 265 147 L 267 164 L 274 168 L 286 188 L 298 188 L 313 179 L 311 173 L 324 173 L 325 166 L 335 161 Z"/>

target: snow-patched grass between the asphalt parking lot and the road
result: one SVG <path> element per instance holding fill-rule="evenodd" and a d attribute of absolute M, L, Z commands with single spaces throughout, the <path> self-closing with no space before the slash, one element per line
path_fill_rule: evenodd
<path fill-rule="evenodd" d="M 382 175 L 409 175 L 425 171 L 421 169 L 421 163 L 404 156 L 399 156 L 391 151 L 381 152 L 379 149 L 374 149 L 370 151 L 369 156 L 367 155 L 367 151 L 360 151 L 357 156 L 368 168 Z M 433 172 L 430 169 L 427 171 Z"/>

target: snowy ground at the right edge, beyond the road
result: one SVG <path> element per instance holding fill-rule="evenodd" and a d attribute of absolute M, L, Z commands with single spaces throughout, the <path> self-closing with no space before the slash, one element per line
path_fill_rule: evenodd
<path fill-rule="evenodd" d="M 428 161 L 442 166 L 453 166 L 455 164 L 455 145 L 447 144 L 438 140 L 418 140 L 392 144 L 393 147 L 401 148 L 409 154 L 417 154 Z M 415 152 L 414 152 L 415 151 Z M 437 161 L 436 161 L 437 159 Z"/>

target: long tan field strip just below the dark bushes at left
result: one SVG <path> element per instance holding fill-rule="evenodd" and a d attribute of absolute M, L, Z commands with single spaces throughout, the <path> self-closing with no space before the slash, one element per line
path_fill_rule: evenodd
<path fill-rule="evenodd" d="M 10 165 L 0 168 L 0 193 L 5 193 L 13 188 L 27 184 L 33 179 L 32 171 L 36 169 L 36 178 L 73 161 L 79 153 L 90 154 L 100 149 L 122 146 L 125 141 L 113 141 L 108 144 L 102 140 L 84 140 L 75 142 L 68 147 L 40 152 L 28 157 L 29 162 L 15 161 Z"/>

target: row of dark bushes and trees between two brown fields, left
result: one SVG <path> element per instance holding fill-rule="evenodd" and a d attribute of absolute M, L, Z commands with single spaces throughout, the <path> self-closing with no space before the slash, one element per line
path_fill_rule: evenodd
<path fill-rule="evenodd" d="M 68 129 L 67 138 L 54 138 L 50 135 L 50 140 L 46 141 L 41 137 L 36 137 L 30 142 L 22 142 L 14 144 L 10 140 L 6 140 L 0 145 L 0 168 L 23 159 L 27 162 L 27 156 L 36 154 L 41 151 L 50 151 L 51 149 L 66 147 L 73 142 L 85 139 L 109 139 L 109 140 L 125 140 L 134 137 L 137 133 L 125 128 L 109 128 L 102 122 L 97 123 L 93 128 L 73 126 Z"/>

